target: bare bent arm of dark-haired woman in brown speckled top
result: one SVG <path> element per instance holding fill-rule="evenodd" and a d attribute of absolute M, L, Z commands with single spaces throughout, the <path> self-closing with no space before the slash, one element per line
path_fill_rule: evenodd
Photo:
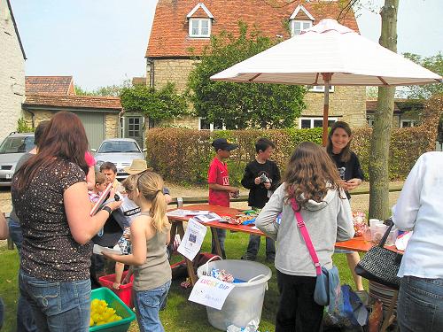
<path fill-rule="evenodd" d="M 83 178 L 84 179 L 84 178 Z M 86 244 L 103 228 L 109 213 L 100 210 L 94 216 L 89 216 L 90 204 L 86 182 L 76 182 L 68 187 L 63 194 L 63 204 L 67 223 L 75 242 Z M 107 204 L 112 210 L 119 208 L 121 201 Z"/>

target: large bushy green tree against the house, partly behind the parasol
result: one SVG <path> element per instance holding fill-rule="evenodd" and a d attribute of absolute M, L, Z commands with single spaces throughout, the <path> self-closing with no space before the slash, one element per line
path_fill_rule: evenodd
<path fill-rule="evenodd" d="M 211 44 L 190 73 L 189 95 L 195 112 L 210 122 L 222 120 L 228 129 L 292 127 L 305 107 L 305 88 L 209 79 L 214 73 L 251 58 L 279 42 L 278 38 L 274 40 L 263 36 L 256 29 L 248 34 L 242 22 L 238 26 L 237 37 L 226 32 L 213 36 Z"/>

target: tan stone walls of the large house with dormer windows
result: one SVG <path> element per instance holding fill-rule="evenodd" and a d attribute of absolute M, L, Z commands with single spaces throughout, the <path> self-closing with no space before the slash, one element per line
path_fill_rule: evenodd
<path fill-rule="evenodd" d="M 178 91 L 183 92 L 194 63 L 195 61 L 190 59 L 154 60 L 155 88 L 159 89 L 166 85 L 167 81 L 172 81 L 175 82 Z M 148 71 L 148 77 L 149 73 Z M 323 92 L 307 92 L 305 102 L 307 109 L 302 112 L 302 116 L 323 116 Z M 348 122 L 351 127 L 366 126 L 366 88 L 334 87 L 334 92 L 330 93 L 329 114 L 330 117 L 337 117 L 338 120 Z M 174 120 L 168 123 L 198 128 L 197 118 Z"/>

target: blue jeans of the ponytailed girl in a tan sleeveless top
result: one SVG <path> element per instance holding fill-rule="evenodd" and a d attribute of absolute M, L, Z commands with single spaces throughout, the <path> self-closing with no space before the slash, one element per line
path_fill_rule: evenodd
<path fill-rule="evenodd" d="M 134 305 L 140 332 L 164 332 L 159 311 L 163 307 L 171 281 L 153 290 L 134 292 Z"/>

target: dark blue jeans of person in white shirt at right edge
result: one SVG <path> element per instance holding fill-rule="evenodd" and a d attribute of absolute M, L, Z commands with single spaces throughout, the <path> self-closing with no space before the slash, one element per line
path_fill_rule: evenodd
<path fill-rule="evenodd" d="M 397 312 L 400 332 L 443 331 L 443 279 L 401 278 Z"/>

